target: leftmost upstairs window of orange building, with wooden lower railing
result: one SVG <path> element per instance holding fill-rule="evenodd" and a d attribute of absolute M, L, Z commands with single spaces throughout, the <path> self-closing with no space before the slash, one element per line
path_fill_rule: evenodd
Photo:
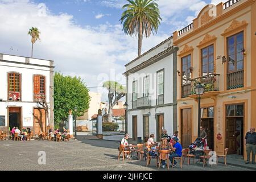
<path fill-rule="evenodd" d="M 187 97 L 191 93 L 191 55 L 182 57 L 181 59 L 182 69 L 182 81 L 181 81 L 181 92 L 182 97 Z"/>

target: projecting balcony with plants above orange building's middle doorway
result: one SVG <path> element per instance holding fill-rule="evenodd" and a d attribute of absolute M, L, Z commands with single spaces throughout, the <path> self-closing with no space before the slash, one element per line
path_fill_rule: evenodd
<path fill-rule="evenodd" d="M 196 92 L 195 92 L 195 85 L 198 84 L 199 82 L 204 85 L 204 94 L 203 97 L 213 97 L 217 96 L 220 93 L 220 89 L 218 87 L 218 79 L 219 79 L 220 74 L 212 73 L 209 75 L 197 77 L 191 79 L 191 92 L 189 93 L 187 90 L 184 93 L 187 93 L 187 97 L 191 98 L 197 98 Z M 189 86 L 187 86 L 189 88 Z"/>

